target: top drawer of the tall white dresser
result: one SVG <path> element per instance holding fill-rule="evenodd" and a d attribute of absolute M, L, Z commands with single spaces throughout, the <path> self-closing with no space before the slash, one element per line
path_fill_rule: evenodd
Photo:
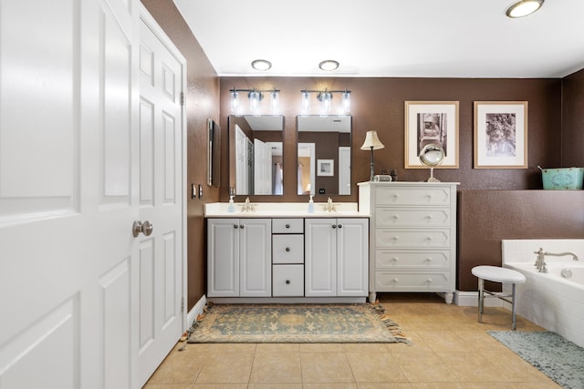
<path fill-rule="evenodd" d="M 450 187 L 396 188 L 380 187 L 375 191 L 377 205 L 450 205 Z"/>

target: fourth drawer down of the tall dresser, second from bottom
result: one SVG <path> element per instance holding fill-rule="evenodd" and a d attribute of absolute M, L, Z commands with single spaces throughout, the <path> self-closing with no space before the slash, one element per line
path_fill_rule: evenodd
<path fill-rule="evenodd" d="M 375 251 L 375 270 L 412 268 L 449 270 L 450 251 Z"/>

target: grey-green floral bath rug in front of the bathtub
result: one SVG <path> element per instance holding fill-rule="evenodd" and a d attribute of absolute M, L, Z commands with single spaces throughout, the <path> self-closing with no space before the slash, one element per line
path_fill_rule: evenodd
<path fill-rule="evenodd" d="M 564 388 L 584 388 L 584 348 L 558 333 L 489 332 L 497 341 Z"/>

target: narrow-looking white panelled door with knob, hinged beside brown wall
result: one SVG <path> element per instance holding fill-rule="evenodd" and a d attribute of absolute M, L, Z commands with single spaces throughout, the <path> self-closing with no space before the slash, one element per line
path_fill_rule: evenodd
<path fill-rule="evenodd" d="M 140 384 L 181 337 L 183 315 L 183 105 L 185 63 L 141 7 L 140 25 Z"/>

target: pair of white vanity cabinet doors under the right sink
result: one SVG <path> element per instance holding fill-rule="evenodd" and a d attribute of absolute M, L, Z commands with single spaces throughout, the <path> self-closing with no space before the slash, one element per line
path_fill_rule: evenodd
<path fill-rule="evenodd" d="M 305 296 L 367 296 L 368 254 L 368 219 L 305 219 Z"/>

